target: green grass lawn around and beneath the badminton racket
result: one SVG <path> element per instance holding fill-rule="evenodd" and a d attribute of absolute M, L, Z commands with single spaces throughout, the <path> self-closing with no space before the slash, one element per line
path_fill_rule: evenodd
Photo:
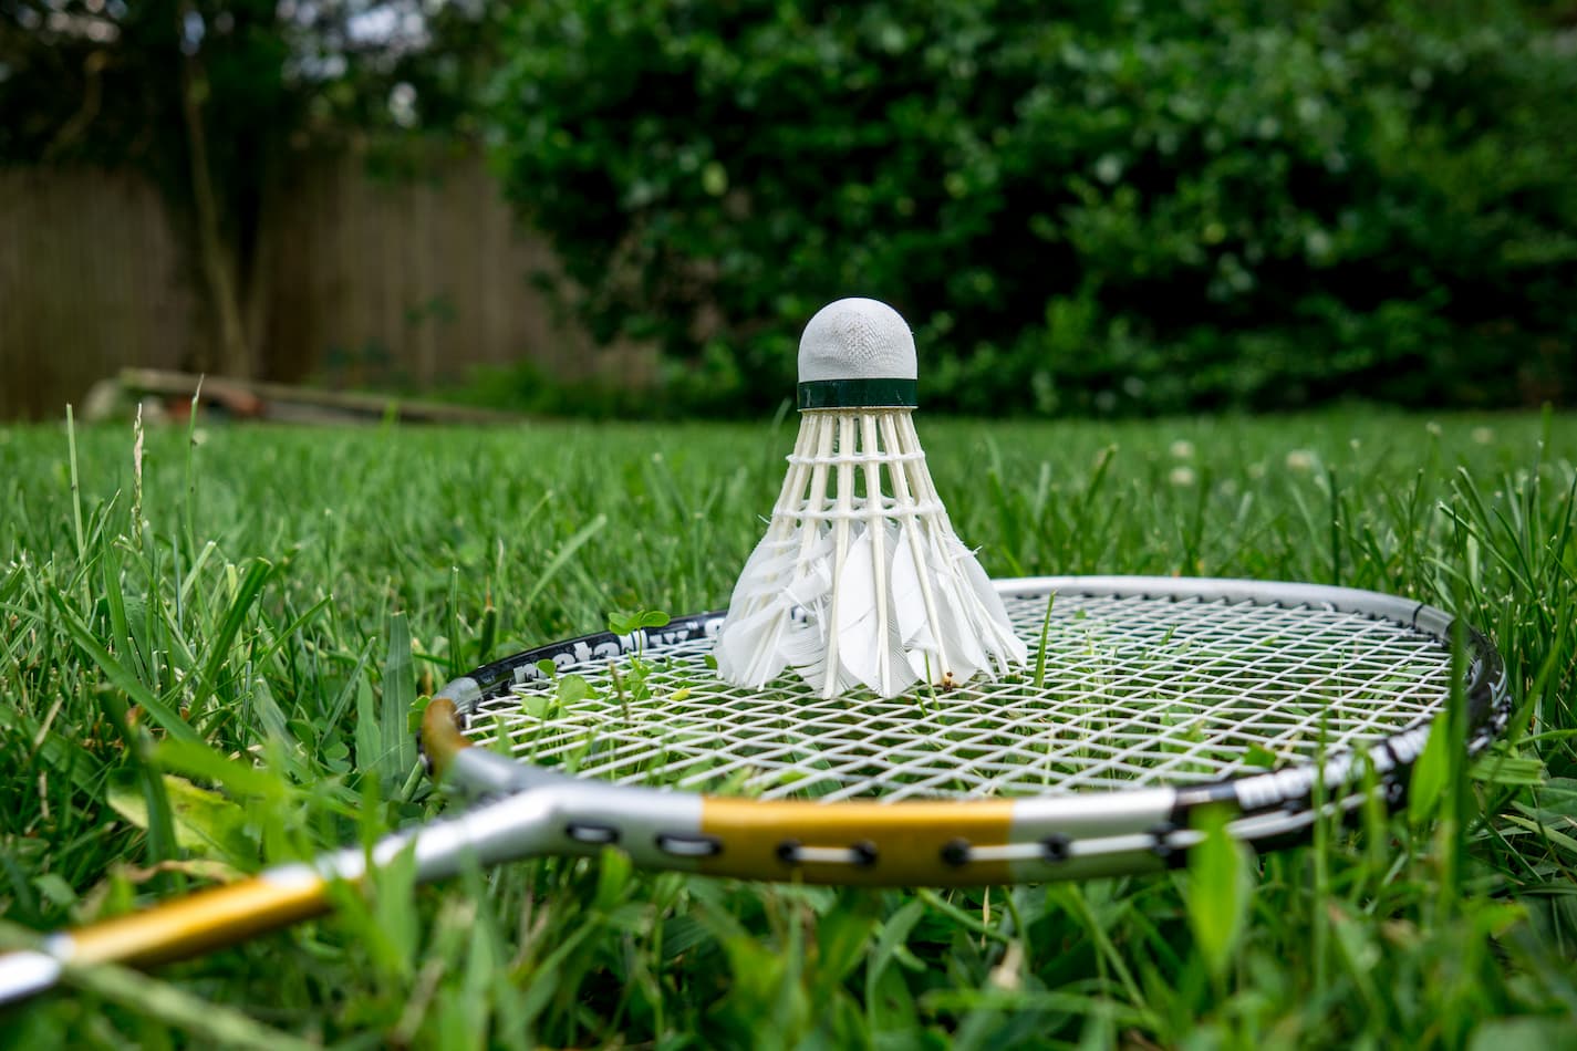
<path fill-rule="evenodd" d="M 727 602 L 795 421 L 0 429 L 0 939 L 438 810 L 448 674 Z M 71 975 L 5 1046 L 1560 1046 L 1577 1016 L 1577 419 L 921 418 L 994 575 L 1243 575 L 1468 615 L 1523 698 L 1408 813 L 1254 863 L 968 892 L 546 859 L 151 977 Z M 73 454 L 74 449 L 74 454 Z"/>

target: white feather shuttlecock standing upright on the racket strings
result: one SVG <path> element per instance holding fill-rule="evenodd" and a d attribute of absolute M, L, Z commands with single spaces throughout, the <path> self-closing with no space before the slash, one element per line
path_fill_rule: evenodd
<path fill-rule="evenodd" d="M 793 668 L 823 696 L 896 696 L 1025 662 L 930 481 L 915 380 L 915 337 L 893 307 L 839 299 L 811 318 L 788 476 L 716 641 L 727 682 Z"/>

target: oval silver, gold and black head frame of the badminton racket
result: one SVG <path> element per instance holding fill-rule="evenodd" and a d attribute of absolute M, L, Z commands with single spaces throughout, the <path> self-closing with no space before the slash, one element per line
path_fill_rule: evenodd
<path fill-rule="evenodd" d="M 1446 611 L 1353 588 L 1173 577 L 1035 577 L 995 581 L 1005 597 L 1077 594 L 1176 602 L 1309 607 L 1388 621 L 1452 646 Z M 1369 794 L 1397 807 L 1433 720 L 1419 720 L 1363 755 L 1334 750 L 1306 763 L 1191 785 L 1001 799 L 855 800 L 736 799 L 637 788 L 536 767 L 465 736 L 470 712 L 538 667 L 661 654 L 716 633 L 722 613 L 677 618 L 629 635 L 602 632 L 541 646 L 449 682 L 423 720 L 423 755 L 435 775 L 487 797 L 525 793 L 549 829 L 531 829 L 528 852 L 596 854 L 617 846 L 640 867 L 765 881 L 869 886 L 971 886 L 1085 879 L 1154 871 L 1184 862 L 1202 838 L 1203 807 L 1225 810 L 1230 832 L 1258 849 L 1307 840 L 1322 816 L 1356 813 Z M 1504 728 L 1511 693 L 1490 641 L 1462 630 L 1467 750 L 1482 752 Z M 943 701 L 945 703 L 945 701 Z M 527 846 L 522 843 L 522 846 Z"/>

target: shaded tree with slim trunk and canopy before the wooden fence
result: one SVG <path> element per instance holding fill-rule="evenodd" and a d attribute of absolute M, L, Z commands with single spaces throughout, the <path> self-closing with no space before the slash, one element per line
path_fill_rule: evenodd
<path fill-rule="evenodd" d="M 429 6 L 0 0 L 0 164 L 151 176 L 213 320 L 214 353 L 188 364 L 262 372 L 246 314 L 267 282 L 262 228 L 285 153 L 314 136 L 475 131 L 489 9 Z"/>

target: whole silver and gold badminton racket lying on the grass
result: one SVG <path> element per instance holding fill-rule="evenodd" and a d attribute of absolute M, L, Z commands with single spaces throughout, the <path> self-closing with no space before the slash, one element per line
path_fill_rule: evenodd
<path fill-rule="evenodd" d="M 194 956 L 328 909 L 412 851 L 421 879 L 617 848 L 636 865 L 867 886 L 1090 879 L 1181 863 L 1202 807 L 1257 849 L 1394 807 L 1452 700 L 1468 755 L 1504 728 L 1492 643 L 1394 596 L 1150 577 L 995 583 L 1022 674 L 894 698 L 714 670 L 722 613 L 531 649 L 449 682 L 423 755 L 470 808 L 371 851 L 47 936 L 0 1001 L 69 964 Z M 1452 641 L 1460 637 L 1462 646 Z"/>

